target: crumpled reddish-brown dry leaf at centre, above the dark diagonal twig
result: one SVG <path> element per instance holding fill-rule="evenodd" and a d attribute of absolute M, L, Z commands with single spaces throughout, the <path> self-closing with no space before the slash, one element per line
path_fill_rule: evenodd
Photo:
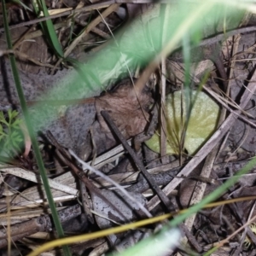
<path fill-rule="evenodd" d="M 147 109 L 150 102 L 151 94 L 147 89 L 136 95 L 130 79 L 125 80 L 117 90 L 96 98 L 96 113 L 102 131 L 110 132 L 101 114 L 102 110 L 107 110 L 125 138 L 143 132 L 149 117 Z"/>

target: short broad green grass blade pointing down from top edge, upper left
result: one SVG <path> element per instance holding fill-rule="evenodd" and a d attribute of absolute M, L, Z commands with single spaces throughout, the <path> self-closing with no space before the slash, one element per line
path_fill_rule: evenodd
<path fill-rule="evenodd" d="M 49 16 L 49 12 L 45 5 L 44 0 L 33 0 L 32 5 L 36 12 L 36 15 L 39 16 L 40 13 L 43 12 L 44 17 Z M 56 35 L 55 28 L 52 24 L 52 21 L 50 19 L 45 20 L 43 22 L 40 22 L 40 25 L 42 27 L 44 35 L 46 36 L 47 40 L 49 41 L 49 44 L 54 49 L 55 54 L 61 58 L 64 58 L 63 50 L 62 50 L 61 44 L 59 42 L 59 39 Z"/>

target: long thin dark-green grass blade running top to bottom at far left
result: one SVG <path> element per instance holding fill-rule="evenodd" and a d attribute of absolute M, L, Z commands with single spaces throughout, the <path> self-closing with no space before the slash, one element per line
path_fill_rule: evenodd
<path fill-rule="evenodd" d="M 7 44 L 9 49 L 12 49 L 12 43 L 11 43 L 11 37 L 10 37 L 10 33 L 9 33 L 9 25 L 8 25 L 8 20 L 7 20 L 7 9 L 6 9 L 6 5 L 5 5 L 5 0 L 2 1 L 2 7 L 3 7 L 3 25 L 4 25 L 4 30 L 5 30 L 5 34 L 6 34 L 6 40 L 7 40 Z M 51 190 L 49 189 L 49 182 L 48 182 L 48 177 L 47 174 L 45 172 L 44 169 L 44 162 L 42 160 L 42 156 L 38 147 L 38 142 L 37 142 L 37 138 L 35 136 L 35 133 L 32 129 L 32 121 L 30 119 L 30 115 L 28 112 L 28 108 L 26 106 L 26 99 L 22 90 L 22 86 L 20 83 L 20 76 L 19 76 L 19 72 L 18 72 L 18 68 L 16 66 L 16 61 L 15 61 L 15 55 L 9 55 L 9 59 L 11 62 L 11 67 L 12 67 L 12 73 L 13 73 L 13 77 L 15 80 L 15 87 L 19 96 L 19 100 L 20 100 L 20 107 L 22 109 L 22 113 L 24 115 L 24 119 L 26 122 L 26 127 L 27 130 L 29 132 L 29 135 L 31 137 L 32 140 L 32 147 L 34 150 L 34 154 L 36 156 L 36 160 L 38 163 L 38 169 L 44 184 L 44 189 L 45 189 L 45 193 L 47 195 L 47 199 L 49 201 L 49 207 L 50 210 L 52 212 L 52 217 L 54 219 L 54 223 L 55 223 L 55 228 L 57 231 L 57 234 L 59 237 L 64 237 L 64 232 L 62 230 L 61 227 L 61 222 L 58 216 L 58 213 L 56 211 L 55 208 L 55 202 L 53 200 L 52 194 L 51 194 Z M 71 255 L 69 248 L 67 246 L 63 246 L 63 251 L 64 254 L 69 256 Z"/>

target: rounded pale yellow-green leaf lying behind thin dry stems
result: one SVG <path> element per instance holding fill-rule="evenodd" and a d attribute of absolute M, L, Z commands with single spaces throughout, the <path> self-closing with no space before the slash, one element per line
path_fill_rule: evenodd
<path fill-rule="evenodd" d="M 189 125 L 186 131 L 184 148 L 189 154 L 195 154 L 201 146 L 206 143 L 207 139 L 215 131 L 218 124 L 219 107 L 204 92 L 192 91 L 191 102 L 194 102 L 189 117 Z M 187 99 L 183 95 L 182 101 L 181 91 L 166 96 L 166 124 L 167 124 L 167 154 L 179 154 L 179 144 L 183 131 L 183 124 L 187 119 L 186 102 Z M 183 111 L 181 111 L 183 108 Z M 183 119 L 181 114 L 183 112 Z M 154 133 L 146 142 L 148 148 L 160 153 L 160 135 L 159 132 Z"/>

